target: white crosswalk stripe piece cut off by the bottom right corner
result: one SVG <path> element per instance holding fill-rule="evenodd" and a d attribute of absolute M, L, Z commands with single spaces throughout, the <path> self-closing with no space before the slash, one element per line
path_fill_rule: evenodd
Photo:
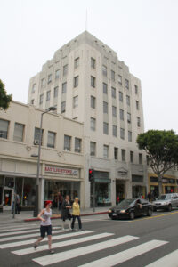
<path fill-rule="evenodd" d="M 150 263 L 145 267 L 177 267 L 178 265 L 178 249 L 174 250 L 172 253 L 160 258 L 154 263 Z"/>

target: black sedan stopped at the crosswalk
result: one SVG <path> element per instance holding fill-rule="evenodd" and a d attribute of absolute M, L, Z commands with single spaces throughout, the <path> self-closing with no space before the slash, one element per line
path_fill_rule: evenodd
<path fill-rule="evenodd" d="M 152 215 L 152 205 L 142 198 L 125 199 L 109 209 L 111 219 L 131 219 L 141 215 Z"/>

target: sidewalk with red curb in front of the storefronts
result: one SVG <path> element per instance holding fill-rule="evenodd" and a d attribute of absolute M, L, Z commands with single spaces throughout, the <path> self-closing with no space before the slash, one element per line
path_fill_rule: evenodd
<path fill-rule="evenodd" d="M 81 210 L 81 216 L 89 216 L 89 215 L 98 215 L 98 214 L 108 214 L 109 206 L 104 207 L 96 207 L 95 212 L 93 212 L 93 208 L 86 208 Z M 15 218 L 12 218 L 13 214 L 11 211 L 4 211 L 0 213 L 0 225 L 5 223 L 19 223 L 19 222 L 35 222 L 38 221 L 37 218 L 34 218 L 33 211 L 22 211 L 20 214 L 15 214 Z M 59 214 L 58 210 L 53 210 L 52 219 L 61 218 L 61 214 Z"/>

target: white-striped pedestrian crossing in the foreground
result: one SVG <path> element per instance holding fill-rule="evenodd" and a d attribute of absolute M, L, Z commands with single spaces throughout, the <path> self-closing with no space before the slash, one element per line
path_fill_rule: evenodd
<path fill-rule="evenodd" d="M 142 238 L 132 235 L 117 237 L 115 233 L 108 231 L 69 231 L 53 227 L 55 254 L 49 255 L 46 238 L 37 249 L 33 247 L 39 235 L 39 225 L 28 225 L 27 229 L 24 228 L 26 227 L 14 229 L 8 227 L 6 231 L 0 232 L 0 254 L 7 249 L 11 252 L 10 255 L 13 255 L 13 259 L 28 256 L 33 266 L 60 267 L 72 262 L 75 264 L 71 266 L 78 267 L 111 267 L 129 260 L 139 260 L 142 255 L 150 254 L 160 247 L 164 249 L 164 246 L 169 243 L 158 239 L 143 241 Z M 166 267 L 177 267 L 178 249 L 158 258 L 153 263 L 151 258 L 149 261 L 144 264 L 144 267 L 162 267 L 163 264 Z"/>

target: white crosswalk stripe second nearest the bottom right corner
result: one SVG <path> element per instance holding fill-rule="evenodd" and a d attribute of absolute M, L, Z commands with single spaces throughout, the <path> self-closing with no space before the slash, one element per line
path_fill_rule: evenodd
<path fill-rule="evenodd" d="M 160 240 L 151 240 L 149 242 L 143 243 L 142 245 L 132 247 L 129 249 L 126 249 L 125 251 L 119 252 L 115 255 L 109 255 L 107 257 L 101 258 L 99 260 L 96 260 L 91 263 L 86 263 L 84 265 L 80 265 L 79 267 L 109 267 L 114 266 L 119 263 L 124 263 L 125 261 L 128 261 L 136 256 L 142 255 L 146 252 L 149 252 L 150 250 L 161 247 L 168 243 L 167 241 L 160 241 Z M 158 265 L 154 265 L 157 266 Z M 169 265 L 165 265 L 166 267 Z M 177 266 L 177 265 L 176 265 Z"/>

